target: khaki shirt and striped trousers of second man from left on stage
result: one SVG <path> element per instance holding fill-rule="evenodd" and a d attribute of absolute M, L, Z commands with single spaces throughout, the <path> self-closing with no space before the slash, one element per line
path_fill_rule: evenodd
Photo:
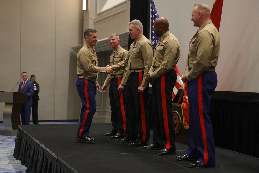
<path fill-rule="evenodd" d="M 128 56 L 128 51 L 119 46 L 113 51 L 110 56 L 110 66 L 116 65 L 119 62 L 126 59 Z M 111 74 L 107 75 L 104 84 L 107 86 L 110 84 L 109 97 L 111 104 L 111 122 L 112 122 L 112 132 L 119 133 L 125 136 L 126 133 L 126 92 L 127 86 L 126 82 L 128 80 L 129 71 L 126 68 L 120 70 L 115 70 Z M 120 84 L 124 85 L 123 91 L 118 91 Z"/>

